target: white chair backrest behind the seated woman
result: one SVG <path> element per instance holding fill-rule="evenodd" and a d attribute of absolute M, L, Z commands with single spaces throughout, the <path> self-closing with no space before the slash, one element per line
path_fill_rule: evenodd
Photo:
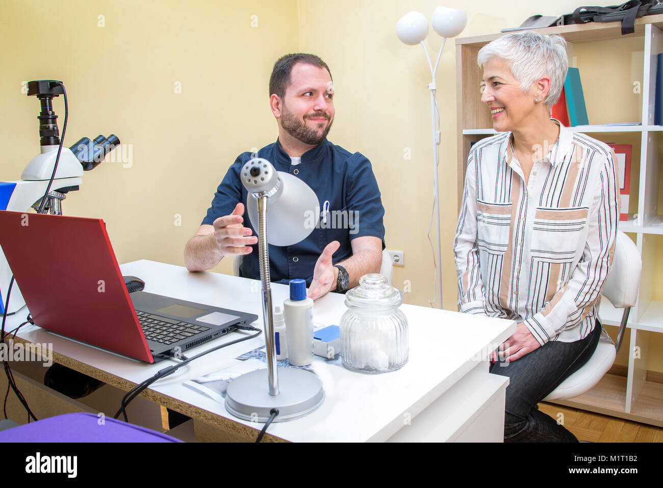
<path fill-rule="evenodd" d="M 603 296 L 615 308 L 634 306 L 638 299 L 641 271 L 642 259 L 638 248 L 628 235 L 617 231 L 613 265 L 603 285 Z"/>

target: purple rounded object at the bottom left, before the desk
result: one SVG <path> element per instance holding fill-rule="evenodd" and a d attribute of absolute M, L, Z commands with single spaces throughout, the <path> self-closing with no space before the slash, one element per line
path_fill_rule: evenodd
<path fill-rule="evenodd" d="M 0 432 L 0 442 L 182 442 L 110 417 L 76 413 L 44 418 Z"/>

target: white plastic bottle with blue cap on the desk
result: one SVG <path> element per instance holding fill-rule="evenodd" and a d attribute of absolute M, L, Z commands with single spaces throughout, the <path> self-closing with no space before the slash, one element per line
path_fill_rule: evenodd
<path fill-rule="evenodd" d="M 283 302 L 288 341 L 288 362 L 306 366 L 313 362 L 313 300 L 306 298 L 306 281 L 290 280 L 290 300 Z"/>

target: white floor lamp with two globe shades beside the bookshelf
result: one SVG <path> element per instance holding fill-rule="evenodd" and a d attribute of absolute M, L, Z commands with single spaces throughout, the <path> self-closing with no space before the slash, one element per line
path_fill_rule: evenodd
<path fill-rule="evenodd" d="M 440 308 L 442 308 L 442 248 L 440 247 L 440 196 L 438 194 L 440 109 L 438 109 L 438 102 L 435 97 L 435 72 L 438 70 L 438 64 L 440 63 L 440 56 L 442 56 L 444 43 L 448 37 L 455 37 L 460 34 L 463 29 L 465 29 L 465 25 L 467 24 L 467 15 L 465 14 L 465 11 L 462 10 L 438 7 L 433 12 L 433 17 L 430 23 L 433 25 L 435 32 L 442 36 L 442 47 L 438 53 L 438 60 L 435 62 L 435 68 L 433 68 L 433 65 L 430 62 L 430 56 L 428 56 L 428 50 L 426 49 L 426 44 L 424 44 L 424 39 L 428 35 L 428 19 L 426 19 L 424 14 L 418 11 L 412 11 L 403 15 L 403 17 L 401 17 L 400 20 L 396 23 L 396 35 L 398 35 L 398 38 L 405 44 L 410 46 L 421 44 L 424 47 L 424 52 L 426 53 L 426 59 L 428 60 L 428 66 L 430 67 L 430 74 L 432 77 L 432 82 L 428 84 L 428 90 L 430 90 L 430 112 L 433 125 L 433 206 L 435 212 L 436 229 L 438 233 L 437 255 L 435 249 L 433 249 L 433 261 L 436 268 L 435 289 L 440 290 Z M 429 235 L 431 225 L 428 227 Z M 428 239 L 430 241 L 430 237 Z M 433 247 L 432 243 L 431 247 Z M 434 296 L 430 303 L 432 304 L 435 302 L 435 300 L 436 298 Z"/>

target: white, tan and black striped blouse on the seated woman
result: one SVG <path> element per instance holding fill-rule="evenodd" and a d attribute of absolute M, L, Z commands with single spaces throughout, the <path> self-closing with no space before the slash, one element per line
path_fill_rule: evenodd
<path fill-rule="evenodd" d="M 524 322 L 541 345 L 593 330 L 619 221 L 609 146 L 560 125 L 546 152 L 525 185 L 510 132 L 476 143 L 453 241 L 460 311 Z"/>

